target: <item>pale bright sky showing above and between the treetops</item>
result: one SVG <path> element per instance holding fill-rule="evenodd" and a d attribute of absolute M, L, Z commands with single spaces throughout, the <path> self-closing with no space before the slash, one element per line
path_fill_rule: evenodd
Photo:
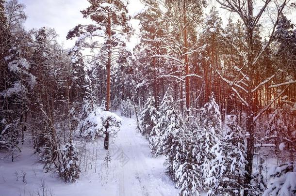
<path fill-rule="evenodd" d="M 65 48 L 70 48 L 74 45 L 74 40 L 66 40 L 67 32 L 78 24 L 90 23 L 90 20 L 83 18 L 80 12 L 88 7 L 89 2 L 87 0 L 19 0 L 19 2 L 26 5 L 25 13 L 28 18 L 24 24 L 25 28 L 27 30 L 39 29 L 41 27 L 54 28 L 59 34 L 58 42 Z M 213 1 L 211 3 L 216 5 Z M 208 12 L 212 5 L 208 6 L 205 12 Z M 216 5 L 216 7 L 219 6 Z M 130 0 L 128 10 L 131 15 L 138 13 L 142 8 L 143 5 L 139 0 Z M 227 11 L 220 10 L 220 16 L 222 16 L 224 23 L 229 15 Z M 292 11 L 289 18 L 296 24 L 296 10 Z M 138 22 L 136 20 L 132 20 L 131 24 L 134 29 L 138 29 Z M 127 45 L 132 49 L 138 42 L 138 36 L 134 35 Z"/>

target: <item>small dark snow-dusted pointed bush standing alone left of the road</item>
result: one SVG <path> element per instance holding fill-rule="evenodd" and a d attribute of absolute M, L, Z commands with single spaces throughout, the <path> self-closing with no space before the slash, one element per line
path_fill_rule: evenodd
<path fill-rule="evenodd" d="M 61 178 L 66 182 L 74 182 L 79 178 L 78 153 L 72 139 L 66 143 L 61 151 L 62 163 L 59 168 Z"/>

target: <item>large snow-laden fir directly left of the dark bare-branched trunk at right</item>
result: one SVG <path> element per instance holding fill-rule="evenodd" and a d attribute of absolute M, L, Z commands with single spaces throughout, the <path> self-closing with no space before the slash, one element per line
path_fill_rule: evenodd
<path fill-rule="evenodd" d="M 227 117 L 227 132 L 220 145 L 215 145 L 216 154 L 210 170 L 208 183 L 214 183 L 209 196 L 237 196 L 248 188 L 244 183 L 246 173 L 246 145 L 242 129 L 236 123 L 236 116 Z"/>

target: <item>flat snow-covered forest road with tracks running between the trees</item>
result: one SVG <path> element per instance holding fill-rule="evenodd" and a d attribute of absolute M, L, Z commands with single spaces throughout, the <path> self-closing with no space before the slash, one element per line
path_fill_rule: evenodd
<path fill-rule="evenodd" d="M 126 165 L 120 167 L 120 196 L 172 196 L 177 195 L 174 184 L 164 174 L 163 158 L 154 158 L 149 151 L 148 142 L 136 133 L 136 122 L 123 118 L 121 131 L 115 144 L 129 158 Z M 122 157 L 124 158 L 124 157 Z"/>

